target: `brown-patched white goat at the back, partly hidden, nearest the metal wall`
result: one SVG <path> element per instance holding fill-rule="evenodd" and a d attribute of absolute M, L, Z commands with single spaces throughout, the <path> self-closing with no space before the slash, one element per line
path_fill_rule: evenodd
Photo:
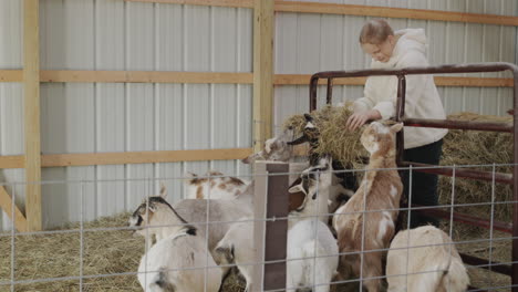
<path fill-rule="evenodd" d="M 208 171 L 205 177 L 188 173 L 186 181 L 189 199 L 235 199 L 248 187 L 248 182 L 237 177 L 225 177 L 218 171 Z"/>

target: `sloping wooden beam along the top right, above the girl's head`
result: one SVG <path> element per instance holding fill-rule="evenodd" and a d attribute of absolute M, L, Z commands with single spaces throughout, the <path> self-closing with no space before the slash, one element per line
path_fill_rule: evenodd
<path fill-rule="evenodd" d="M 453 22 L 518 25 L 518 17 L 476 14 L 439 10 L 388 8 L 372 6 L 334 4 L 321 2 L 276 1 L 276 11 L 297 13 L 322 13 L 375 18 L 421 19 Z"/>

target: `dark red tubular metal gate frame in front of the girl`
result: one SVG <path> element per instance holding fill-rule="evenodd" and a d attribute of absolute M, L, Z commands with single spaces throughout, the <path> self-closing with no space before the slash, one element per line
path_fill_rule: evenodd
<path fill-rule="evenodd" d="M 406 94 L 406 75 L 412 74 L 445 74 L 445 73 L 479 73 L 479 72 L 500 72 L 510 71 L 514 76 L 514 124 L 506 123 L 487 123 L 487 122 L 458 122 L 448 119 L 429 119 L 429 118 L 412 118 L 405 117 L 405 94 Z M 490 131 L 490 132 L 507 132 L 514 134 L 514 171 L 511 174 L 495 174 L 495 181 L 501 184 L 512 185 L 512 223 L 494 222 L 493 227 L 497 230 L 505 231 L 512 234 L 512 251 L 511 251 L 511 265 L 498 264 L 491 262 L 493 271 L 508 274 L 511 277 L 512 292 L 518 292 L 518 66 L 511 63 L 477 63 L 477 64 L 459 64 L 459 65 L 442 65 L 428 67 L 407 67 L 402 70 L 358 70 L 358 71 L 327 71 L 319 72 L 311 76 L 310 81 L 310 111 L 317 109 L 317 87 L 320 79 L 327 79 L 327 103 L 332 102 L 332 88 L 334 79 L 344 77 L 361 77 L 361 76 L 385 76 L 395 75 L 397 77 L 397 103 L 396 103 L 396 122 L 403 122 L 405 126 L 411 127 L 435 127 L 435 128 L 452 128 L 452 129 L 472 129 L 472 131 Z M 437 168 L 426 164 L 410 163 L 403 160 L 403 132 L 397 134 L 397 165 L 401 167 L 418 167 L 416 171 L 452 176 L 453 169 Z M 431 168 L 426 168 L 431 167 Z M 455 169 L 456 177 L 493 180 L 493 174 L 488 171 L 480 171 L 475 169 Z M 412 206 L 414 207 L 414 206 Z M 443 210 L 422 209 L 431 216 L 448 218 L 450 212 Z M 462 221 L 468 225 L 475 225 L 484 228 L 491 228 L 489 220 L 469 216 L 466 213 L 454 212 L 453 218 L 455 221 Z M 468 264 L 488 264 L 485 259 L 462 254 L 463 260 Z M 483 267 L 484 268 L 484 267 Z M 487 268 L 487 267 L 486 267 Z"/>

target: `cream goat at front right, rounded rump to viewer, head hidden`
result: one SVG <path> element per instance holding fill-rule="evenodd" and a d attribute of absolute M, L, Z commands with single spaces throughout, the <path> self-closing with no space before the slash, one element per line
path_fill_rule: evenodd
<path fill-rule="evenodd" d="M 386 277 L 388 292 L 462 292 L 469 285 L 452 239 L 433 226 L 397 232 L 388 250 Z"/>

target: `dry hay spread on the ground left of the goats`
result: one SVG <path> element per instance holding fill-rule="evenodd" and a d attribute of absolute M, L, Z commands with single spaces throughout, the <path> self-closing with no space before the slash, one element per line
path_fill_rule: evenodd
<path fill-rule="evenodd" d="M 84 225 L 85 229 L 125 227 L 128 215 L 103 218 Z M 64 230 L 79 229 L 72 225 Z M 6 234 L 6 233 L 3 233 Z M 9 233 L 7 233 L 9 234 Z M 80 275 L 79 232 L 60 234 L 17 236 L 14 242 L 14 280 Z M 144 239 L 132 231 L 84 232 L 83 275 L 136 272 Z M 0 282 L 11 280 L 11 238 L 0 237 Z M 2 285 L 0 291 L 10 291 Z M 15 285 L 14 291 L 80 291 L 79 280 L 51 281 Z M 136 275 L 84 279 L 83 291 L 141 291 Z"/>

